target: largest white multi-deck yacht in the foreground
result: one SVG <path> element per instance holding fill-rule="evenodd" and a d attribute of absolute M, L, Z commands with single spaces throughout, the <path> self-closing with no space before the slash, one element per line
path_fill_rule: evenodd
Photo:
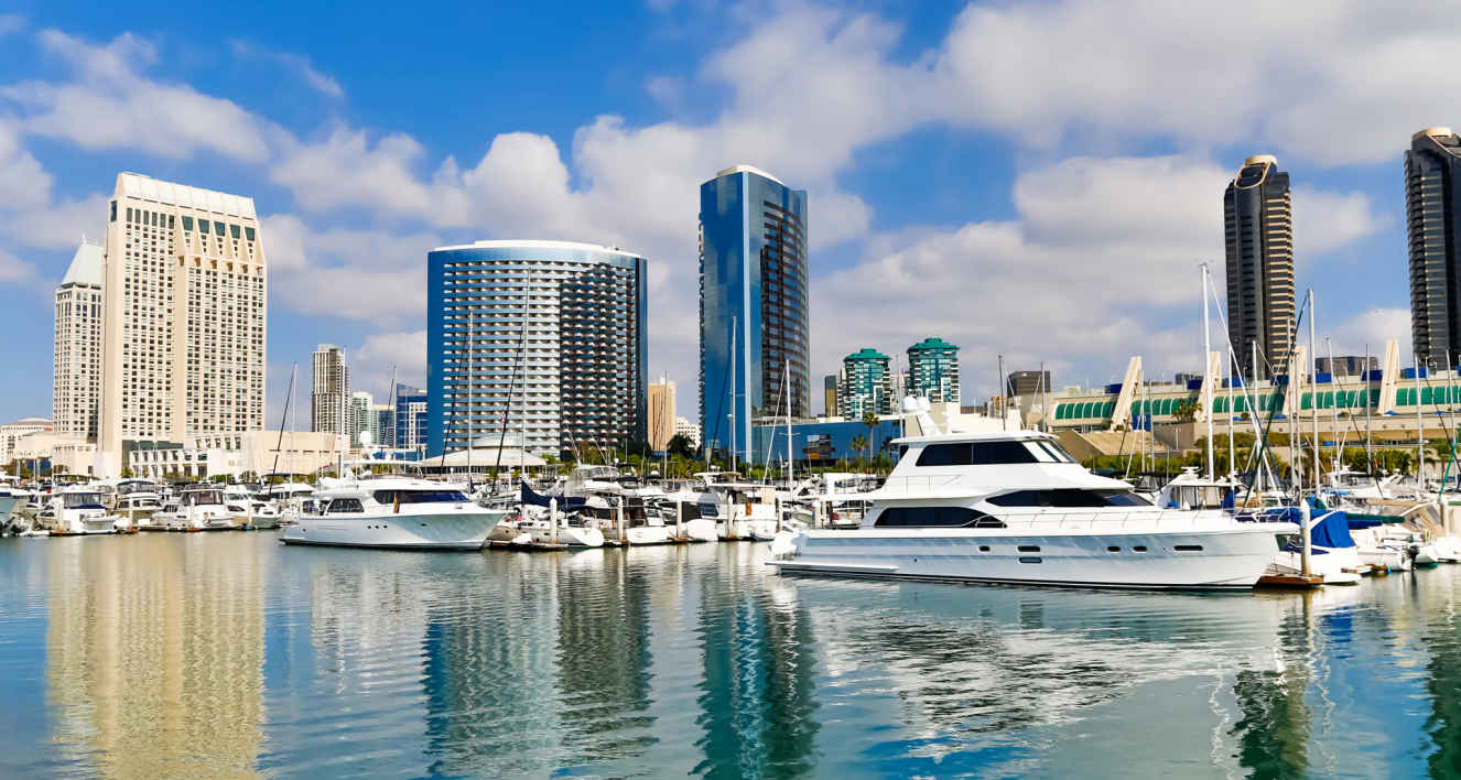
<path fill-rule="evenodd" d="M 923 431 L 937 431 L 922 421 Z M 786 533 L 786 573 L 1081 587 L 1252 587 L 1293 523 L 1160 508 L 1049 434 L 935 434 L 903 454 L 856 530 Z"/>

